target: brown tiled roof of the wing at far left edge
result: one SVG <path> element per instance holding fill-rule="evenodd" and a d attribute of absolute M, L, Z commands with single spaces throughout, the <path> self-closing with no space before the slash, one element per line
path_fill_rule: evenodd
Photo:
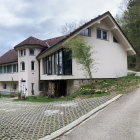
<path fill-rule="evenodd" d="M 18 53 L 14 49 L 6 52 L 0 57 L 0 65 L 13 62 L 18 62 Z"/>

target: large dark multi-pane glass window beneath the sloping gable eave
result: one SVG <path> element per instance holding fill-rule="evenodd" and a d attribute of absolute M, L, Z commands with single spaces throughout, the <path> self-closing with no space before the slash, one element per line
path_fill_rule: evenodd
<path fill-rule="evenodd" d="M 61 49 L 43 59 L 44 74 L 71 75 L 72 74 L 72 51 Z"/>

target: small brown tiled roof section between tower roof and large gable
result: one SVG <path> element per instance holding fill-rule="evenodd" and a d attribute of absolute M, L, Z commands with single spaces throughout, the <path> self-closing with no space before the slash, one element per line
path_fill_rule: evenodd
<path fill-rule="evenodd" d="M 65 37 L 66 36 L 59 36 L 59 37 L 47 39 L 44 41 L 49 45 L 49 47 L 51 47 L 51 46 L 55 45 L 56 43 L 58 43 L 59 41 L 63 40 Z"/>

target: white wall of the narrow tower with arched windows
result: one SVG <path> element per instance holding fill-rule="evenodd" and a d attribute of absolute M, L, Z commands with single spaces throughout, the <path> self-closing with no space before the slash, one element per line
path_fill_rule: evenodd
<path fill-rule="evenodd" d="M 34 94 L 39 95 L 39 62 L 36 59 L 36 56 L 40 53 L 40 49 L 34 46 L 35 54 L 30 55 L 29 46 L 24 46 L 24 49 L 25 48 L 26 48 L 26 56 L 19 56 L 18 50 L 19 89 L 22 89 L 22 80 L 25 80 L 26 96 L 32 95 L 31 94 L 32 83 L 34 83 Z M 35 62 L 35 70 L 31 70 L 32 61 Z M 21 62 L 25 62 L 25 71 L 21 70 Z"/>

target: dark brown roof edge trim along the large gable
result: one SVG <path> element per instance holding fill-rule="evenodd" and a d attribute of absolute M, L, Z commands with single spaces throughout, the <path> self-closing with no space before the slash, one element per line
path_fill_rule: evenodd
<path fill-rule="evenodd" d="M 54 45 L 52 45 L 51 47 L 45 49 L 43 52 L 41 52 L 37 57 L 42 56 L 45 52 L 47 52 L 48 50 L 52 49 L 53 47 L 65 42 L 66 40 L 68 40 L 69 38 L 71 38 L 72 36 L 74 36 L 76 33 L 82 31 L 82 29 L 85 29 L 86 27 L 88 27 L 89 25 L 91 25 L 92 23 L 100 20 L 101 18 L 105 17 L 109 15 L 112 20 L 115 22 L 115 24 L 117 25 L 117 27 L 120 29 L 120 31 L 122 32 L 123 36 L 126 38 L 126 40 L 128 41 L 128 43 L 131 45 L 132 49 L 136 52 L 136 50 L 134 49 L 132 43 L 129 41 L 129 39 L 127 38 L 127 36 L 124 34 L 124 32 L 122 31 L 121 27 L 117 24 L 116 20 L 113 18 L 113 16 L 111 15 L 111 13 L 109 11 L 105 12 L 102 15 L 99 15 L 98 17 L 91 19 L 89 22 L 85 23 L 84 25 L 80 26 L 79 28 L 77 28 L 76 30 L 74 30 L 73 32 L 71 32 L 70 34 L 66 35 L 64 38 L 62 38 L 60 41 L 58 41 L 57 43 L 55 43 Z"/>

